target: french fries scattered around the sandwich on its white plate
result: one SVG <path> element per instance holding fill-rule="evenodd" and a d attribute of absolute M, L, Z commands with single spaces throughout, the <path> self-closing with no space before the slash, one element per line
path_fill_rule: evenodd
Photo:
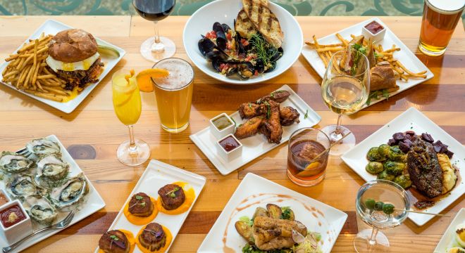
<path fill-rule="evenodd" d="M 312 37 L 313 41 L 305 42 L 308 46 L 315 48 L 316 53 L 318 53 L 318 56 L 320 56 L 321 60 L 323 60 L 325 67 L 328 67 L 328 63 L 333 53 L 341 50 L 345 51 L 347 50 L 347 46 L 349 46 L 349 41 L 344 39 L 344 37 L 340 34 L 336 33 L 336 37 L 339 39 L 340 43 L 327 45 L 318 44 L 315 35 Z M 352 39 L 356 36 L 351 34 L 350 37 Z M 366 46 L 368 44 L 368 40 L 364 39 L 363 44 Z M 373 50 L 375 51 L 376 63 L 389 63 L 392 69 L 399 73 L 399 77 L 404 81 L 407 82 L 410 78 L 426 78 L 426 71 L 419 73 L 411 72 L 411 70 L 408 70 L 407 67 L 405 67 L 399 60 L 394 58 L 394 53 L 400 51 L 400 48 L 397 48 L 395 45 L 392 45 L 392 48 L 387 50 L 384 50 L 383 46 L 380 44 L 373 45 Z"/>

